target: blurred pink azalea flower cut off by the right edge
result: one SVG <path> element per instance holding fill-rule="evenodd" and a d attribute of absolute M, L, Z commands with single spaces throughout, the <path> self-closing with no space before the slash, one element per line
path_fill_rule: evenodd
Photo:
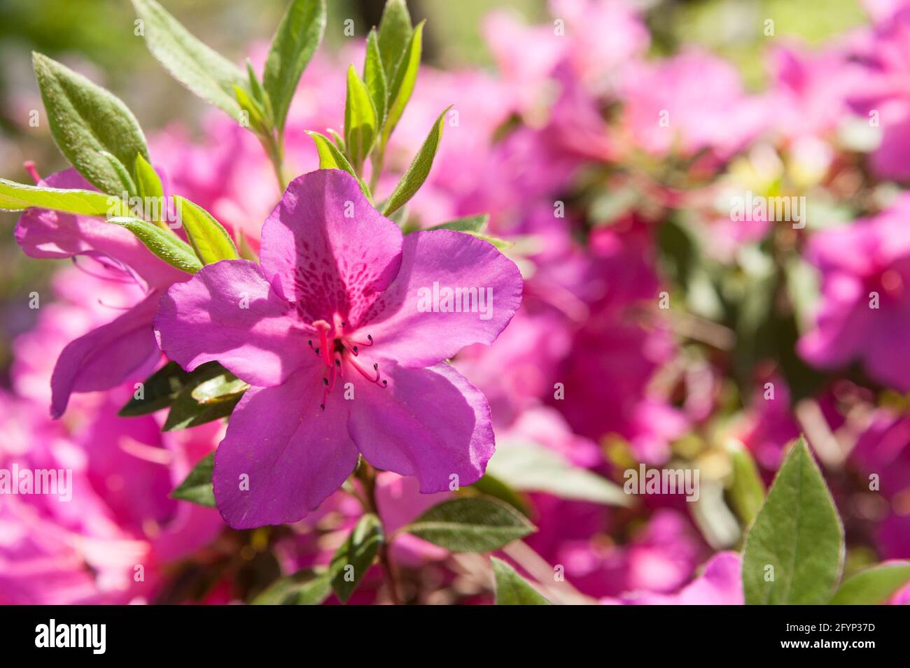
<path fill-rule="evenodd" d="M 910 197 L 869 219 L 815 234 L 807 256 L 822 272 L 815 328 L 799 340 L 826 369 L 862 361 L 875 381 L 910 389 Z M 877 306 L 875 300 L 877 298 Z"/>

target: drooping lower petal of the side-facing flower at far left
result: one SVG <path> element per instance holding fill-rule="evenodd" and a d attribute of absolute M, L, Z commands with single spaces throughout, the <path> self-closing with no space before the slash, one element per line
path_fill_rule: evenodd
<path fill-rule="evenodd" d="M 66 411 L 74 392 L 109 390 L 161 354 L 152 332 L 161 293 L 153 292 L 116 320 L 66 344 L 51 375 L 51 415 Z"/>

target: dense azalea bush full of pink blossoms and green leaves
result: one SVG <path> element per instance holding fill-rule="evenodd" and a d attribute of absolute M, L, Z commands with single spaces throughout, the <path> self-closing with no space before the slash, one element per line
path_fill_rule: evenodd
<path fill-rule="evenodd" d="M 133 4 L 217 109 L 147 136 L 34 55 L 72 168 L 0 207 L 73 266 L 0 394 L 0 603 L 910 601 L 910 5 L 753 93 L 622 0 L 491 11 L 493 72 L 403 0 L 244 65 Z"/>

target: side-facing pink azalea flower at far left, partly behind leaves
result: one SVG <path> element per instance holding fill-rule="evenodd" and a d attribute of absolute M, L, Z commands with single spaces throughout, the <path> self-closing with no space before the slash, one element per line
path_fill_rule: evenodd
<path fill-rule="evenodd" d="M 95 190 L 72 169 L 39 184 Z M 87 259 L 108 280 L 139 284 L 144 292 L 123 314 L 64 348 L 51 378 L 54 417 L 64 414 L 74 392 L 107 390 L 137 370 L 154 368 L 160 353 L 151 323 L 158 299 L 167 286 L 185 280 L 187 274 L 149 253 L 125 228 L 88 216 L 30 209 L 15 227 L 15 240 L 31 257 Z"/>

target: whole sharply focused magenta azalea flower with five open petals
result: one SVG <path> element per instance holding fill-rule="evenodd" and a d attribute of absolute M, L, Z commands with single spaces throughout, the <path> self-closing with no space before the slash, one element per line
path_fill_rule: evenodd
<path fill-rule="evenodd" d="M 260 258 L 207 265 L 168 291 L 156 319 L 169 358 L 187 369 L 218 360 L 252 385 L 217 451 L 227 523 L 297 521 L 359 454 L 416 476 L 424 494 L 452 475 L 478 480 L 493 451 L 490 407 L 444 360 L 505 328 L 521 302 L 518 268 L 468 234 L 402 237 L 335 170 L 288 185 Z M 434 284 L 491 290 L 489 319 L 428 311 L 420 295 Z"/>

